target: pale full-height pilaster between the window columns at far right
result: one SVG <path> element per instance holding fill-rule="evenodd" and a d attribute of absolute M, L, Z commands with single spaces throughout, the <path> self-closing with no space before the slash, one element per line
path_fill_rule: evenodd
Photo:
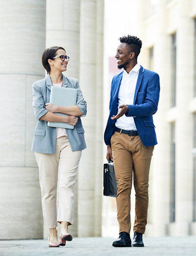
<path fill-rule="evenodd" d="M 177 30 L 177 108 L 176 120 L 176 233 L 189 235 L 192 221 L 193 197 L 193 117 L 189 103 L 193 97 L 194 77 L 194 23 L 189 17 L 190 0 L 179 1 L 179 28 Z M 186 46 L 186 47 L 185 47 Z M 189 61 L 187 62 L 187 58 Z M 184 64 L 186 63 L 186 64 Z"/>

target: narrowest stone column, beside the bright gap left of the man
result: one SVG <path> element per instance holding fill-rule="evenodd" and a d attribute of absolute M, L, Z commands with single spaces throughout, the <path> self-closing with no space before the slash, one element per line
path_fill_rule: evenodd
<path fill-rule="evenodd" d="M 101 236 L 103 195 L 103 40 L 104 0 L 97 1 L 97 46 L 96 46 L 96 140 L 95 140 L 95 219 L 94 236 Z"/>

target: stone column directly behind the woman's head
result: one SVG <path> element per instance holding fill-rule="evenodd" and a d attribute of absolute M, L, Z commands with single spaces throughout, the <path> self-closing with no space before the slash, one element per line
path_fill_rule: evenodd
<path fill-rule="evenodd" d="M 46 1 L 46 47 L 61 46 L 70 57 L 67 71 L 64 76 L 79 79 L 80 64 L 80 0 L 47 0 Z M 79 81 L 80 83 L 80 81 Z M 82 88 L 81 88 L 82 90 Z M 82 120 L 83 121 L 83 120 Z M 80 168 L 79 168 L 80 169 Z M 77 236 L 77 183 L 75 183 L 74 221 L 69 230 Z M 48 230 L 44 228 L 45 237 Z"/>

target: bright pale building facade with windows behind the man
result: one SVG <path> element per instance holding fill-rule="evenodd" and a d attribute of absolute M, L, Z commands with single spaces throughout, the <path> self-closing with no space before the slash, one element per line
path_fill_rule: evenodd
<path fill-rule="evenodd" d="M 153 117 L 158 145 L 150 167 L 145 234 L 196 235 L 196 1 L 123 0 L 121 4 L 132 10 L 132 15 L 124 12 L 118 21 L 120 28 L 115 23 L 116 38 L 131 34 L 143 41 L 138 63 L 157 72 L 161 84 Z M 108 67 L 110 62 L 106 63 Z M 106 79 L 107 91 L 109 85 Z M 134 191 L 131 200 L 134 220 Z M 104 209 L 111 212 L 110 220 L 104 212 L 105 232 L 110 227 L 117 232 L 113 199 L 104 203 Z"/>

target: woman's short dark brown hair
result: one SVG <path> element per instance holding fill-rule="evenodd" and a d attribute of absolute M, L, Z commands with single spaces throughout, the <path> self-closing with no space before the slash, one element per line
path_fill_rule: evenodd
<path fill-rule="evenodd" d="M 52 46 L 50 48 L 45 49 L 42 54 L 41 62 L 42 62 L 43 67 L 47 71 L 47 74 L 50 73 L 50 71 L 51 71 L 50 64 L 48 63 L 48 59 L 53 59 L 56 55 L 57 50 L 59 50 L 59 49 L 62 49 L 65 51 L 65 49 L 63 47 Z"/>

